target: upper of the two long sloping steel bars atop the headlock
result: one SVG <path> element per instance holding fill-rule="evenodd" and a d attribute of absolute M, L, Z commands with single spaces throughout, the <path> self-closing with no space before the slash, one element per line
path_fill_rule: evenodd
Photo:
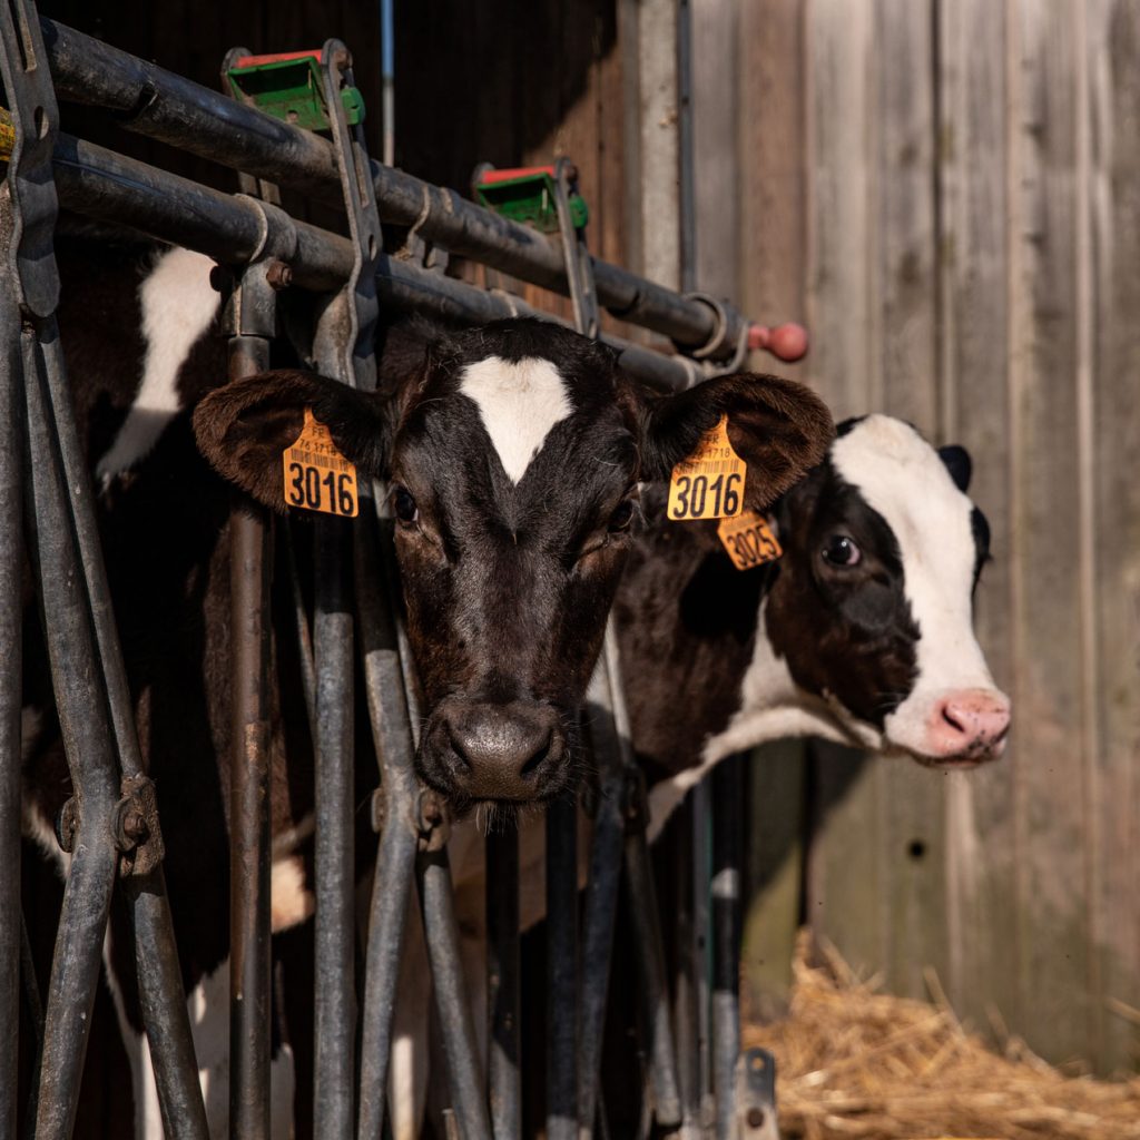
<path fill-rule="evenodd" d="M 42 22 L 56 84 L 65 98 L 119 113 L 128 130 L 180 149 L 340 201 L 333 148 L 317 135 L 270 119 L 196 83 L 144 63 L 63 24 Z M 454 190 L 372 164 L 384 221 L 420 223 L 421 235 L 454 253 L 569 295 L 562 250 L 524 226 L 507 221 Z M 422 221 L 421 221 L 422 217 Z M 604 261 L 594 262 L 601 303 L 622 320 L 662 333 L 684 348 L 701 349 L 717 336 L 719 316 L 701 300 Z M 726 308 L 727 327 L 715 358 L 732 356 L 748 321 Z"/>

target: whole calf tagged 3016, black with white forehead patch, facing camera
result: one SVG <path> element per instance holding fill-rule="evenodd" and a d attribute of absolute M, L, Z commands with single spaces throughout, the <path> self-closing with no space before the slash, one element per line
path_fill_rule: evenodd
<path fill-rule="evenodd" d="M 399 366 L 382 367 L 373 394 L 285 370 L 198 399 L 223 375 L 219 348 L 199 340 L 217 310 L 204 260 L 166 253 L 137 290 L 137 276 L 128 285 L 131 254 L 99 260 L 96 252 L 80 284 L 84 312 L 68 316 L 64 279 L 60 327 L 79 418 L 105 487 L 108 579 L 166 838 L 166 881 L 211 1127 L 222 1134 L 228 518 L 246 496 L 285 511 L 282 454 L 300 434 L 306 410 L 327 424 L 361 480 L 390 489 L 426 717 L 416 763 L 461 808 L 544 800 L 577 781 L 576 714 L 633 545 L 642 488 L 668 479 L 726 414 L 748 464 L 746 502 L 763 508 L 819 462 L 832 425 L 816 397 L 775 377 L 731 376 L 648 398 L 610 350 L 526 319 L 397 353 Z M 84 268 L 82 255 L 71 260 Z M 139 402 L 128 410 L 123 392 L 136 389 Z M 131 470 L 121 475 L 124 466 Z M 271 659 L 275 931 L 298 926 L 312 910 L 312 749 L 284 585 L 275 585 Z M 30 676 L 27 705 L 27 723 L 38 722 L 40 731 L 27 741 L 26 815 L 30 831 L 50 847 L 50 824 L 70 781 L 42 676 Z M 357 741 L 356 801 L 363 804 L 376 765 L 369 734 L 358 732 Z M 358 822 L 363 862 L 374 848 L 364 841 L 363 813 Z M 139 1130 L 155 1134 L 148 1054 L 121 930 L 113 926 L 108 939 L 108 974 L 132 1056 Z M 283 1073 L 277 1089 L 288 1080 Z M 275 1113 L 277 1134 L 287 1132 L 287 1107 Z"/>

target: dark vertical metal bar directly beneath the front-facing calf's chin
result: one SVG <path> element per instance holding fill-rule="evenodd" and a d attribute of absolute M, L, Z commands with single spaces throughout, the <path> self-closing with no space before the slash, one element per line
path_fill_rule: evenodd
<path fill-rule="evenodd" d="M 495 1140 L 522 1134 L 519 1081 L 519 832 L 487 836 L 488 1081 Z"/>

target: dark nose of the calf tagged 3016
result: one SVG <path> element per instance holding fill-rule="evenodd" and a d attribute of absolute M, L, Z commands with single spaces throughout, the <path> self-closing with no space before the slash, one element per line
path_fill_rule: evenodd
<path fill-rule="evenodd" d="M 475 799 L 540 796 L 565 749 L 557 712 L 546 705 L 467 706 L 448 716 L 447 731 L 457 781 Z"/>

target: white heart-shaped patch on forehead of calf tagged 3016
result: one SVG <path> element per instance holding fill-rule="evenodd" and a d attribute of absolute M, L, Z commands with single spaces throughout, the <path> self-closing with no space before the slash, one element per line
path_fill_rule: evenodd
<path fill-rule="evenodd" d="M 463 369 L 459 391 L 479 416 L 513 483 L 521 481 L 551 429 L 573 412 L 565 381 L 549 360 L 487 357 Z"/>

